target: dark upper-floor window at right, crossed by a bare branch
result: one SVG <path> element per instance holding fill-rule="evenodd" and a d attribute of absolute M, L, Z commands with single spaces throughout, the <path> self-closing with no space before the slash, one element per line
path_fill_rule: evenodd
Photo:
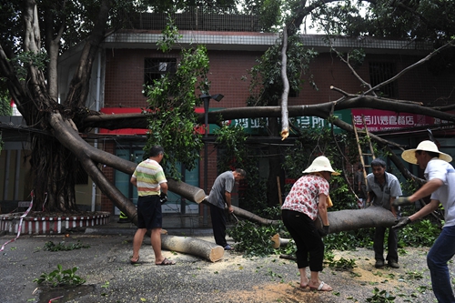
<path fill-rule="evenodd" d="M 379 85 L 392 76 L 396 75 L 395 64 L 391 62 L 370 62 L 369 63 L 369 83 L 372 87 Z M 379 87 L 376 94 L 388 98 L 398 97 L 397 82 Z"/>

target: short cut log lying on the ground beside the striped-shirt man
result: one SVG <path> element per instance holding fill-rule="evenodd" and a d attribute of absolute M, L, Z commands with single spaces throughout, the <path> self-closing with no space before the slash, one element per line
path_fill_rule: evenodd
<path fill-rule="evenodd" d="M 161 235 L 161 247 L 167 250 L 206 258 L 212 262 L 217 262 L 223 258 L 225 253 L 223 247 L 195 237 Z"/>

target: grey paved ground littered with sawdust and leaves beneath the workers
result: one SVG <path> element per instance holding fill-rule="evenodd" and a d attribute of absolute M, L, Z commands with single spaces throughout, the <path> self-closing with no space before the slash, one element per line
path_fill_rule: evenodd
<path fill-rule="evenodd" d="M 141 264 L 132 266 L 132 240 L 136 227 L 87 228 L 85 232 L 60 236 L 21 236 L 0 253 L 0 303 L 341 303 L 367 302 L 374 288 L 387 289 L 397 296 L 395 303 L 432 302 L 430 273 L 425 255 L 428 248 L 406 248 L 400 258 L 401 268 L 373 268 L 370 249 L 341 252 L 338 257 L 355 259 L 356 268 L 337 271 L 325 268 L 321 278 L 334 291 L 321 293 L 298 288 L 298 270 L 294 261 L 277 256 L 243 258 L 237 252 L 226 252 L 223 259 L 212 263 L 206 259 L 171 251 L 167 258 L 175 266 L 156 266 L 149 239 L 140 252 Z M 210 230 L 168 230 L 169 234 L 190 235 L 213 242 Z M 0 236 L 0 246 L 14 236 Z M 71 251 L 45 251 L 45 243 L 80 243 L 88 248 Z M 49 290 L 33 280 L 42 273 L 78 267 L 76 275 L 85 278 L 82 288 Z M 454 270 L 450 264 L 450 271 Z M 410 278 L 409 272 L 422 273 Z"/>

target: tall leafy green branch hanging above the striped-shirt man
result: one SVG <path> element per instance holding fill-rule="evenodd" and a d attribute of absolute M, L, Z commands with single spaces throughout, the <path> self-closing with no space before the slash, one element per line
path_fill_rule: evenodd
<path fill-rule="evenodd" d="M 167 45 L 168 46 L 168 45 Z M 166 75 L 152 86 L 147 86 L 147 102 L 151 110 L 148 117 L 146 155 L 151 146 L 165 148 L 164 167 L 169 177 L 179 178 L 177 163 L 188 170 L 196 167 L 203 146 L 197 128 L 195 107 L 201 99 L 195 93 L 208 90 L 207 49 L 198 45 L 196 49 L 183 49 L 175 75 Z"/>

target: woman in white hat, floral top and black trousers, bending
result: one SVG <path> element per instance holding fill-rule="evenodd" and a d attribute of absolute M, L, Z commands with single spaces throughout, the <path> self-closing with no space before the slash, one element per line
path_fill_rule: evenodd
<path fill-rule="evenodd" d="M 294 183 L 281 207 L 283 223 L 296 242 L 300 288 L 330 291 L 333 288 L 319 279 L 319 271 L 322 271 L 324 259 L 322 237 L 329 234 L 329 180 L 331 175 L 339 173 L 333 170 L 329 159 L 324 156 L 314 159 L 303 173 L 306 175 Z M 322 230 L 315 225 L 318 215 L 323 224 Z M 308 266 L 311 271 L 309 279 Z"/>

